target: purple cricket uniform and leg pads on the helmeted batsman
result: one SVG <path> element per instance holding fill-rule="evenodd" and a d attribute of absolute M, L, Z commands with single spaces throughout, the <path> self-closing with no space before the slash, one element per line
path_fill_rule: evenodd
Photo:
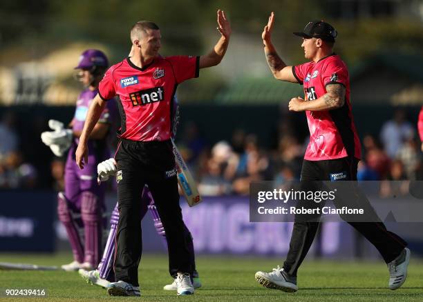
<path fill-rule="evenodd" d="M 88 107 L 97 92 L 98 90 L 86 89 L 79 94 L 73 117 L 74 131 L 82 131 L 84 128 Z M 98 122 L 113 123 L 115 114 L 115 102 L 108 101 Z M 78 142 L 78 138 L 73 139 L 66 159 L 65 192 L 64 196 L 59 194 L 58 214 L 68 233 L 75 260 L 79 263 L 88 262 L 96 267 L 102 252 L 102 214 L 105 210 L 105 185 L 97 184 L 97 164 L 109 159 L 110 151 L 106 138 L 89 140 L 88 164 L 80 170 L 75 161 Z M 81 214 L 79 221 L 75 221 L 75 217 L 72 216 L 74 213 Z M 84 243 L 77 232 L 77 224 L 79 227 L 84 227 Z"/>

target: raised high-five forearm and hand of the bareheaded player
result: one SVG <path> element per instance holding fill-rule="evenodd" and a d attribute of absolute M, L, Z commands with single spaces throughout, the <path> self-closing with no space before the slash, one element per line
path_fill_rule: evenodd
<path fill-rule="evenodd" d="M 218 10 L 217 16 L 217 30 L 220 32 L 221 37 L 214 46 L 213 50 L 209 52 L 209 54 L 205 54 L 200 57 L 200 68 L 207 68 L 218 65 L 218 63 L 222 61 L 223 56 L 225 56 L 227 46 L 229 45 L 229 37 L 231 36 L 231 26 L 229 21 L 227 21 L 225 12 L 223 10 Z"/>

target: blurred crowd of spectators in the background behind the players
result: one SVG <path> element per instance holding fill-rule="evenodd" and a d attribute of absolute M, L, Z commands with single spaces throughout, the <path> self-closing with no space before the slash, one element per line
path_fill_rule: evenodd
<path fill-rule="evenodd" d="M 19 131 L 17 122 L 12 112 L 1 117 L 0 188 L 62 190 L 64 159 L 48 154 L 50 150 L 42 145 L 37 147 L 33 142 L 28 145 L 28 136 Z M 180 130 L 177 145 L 198 181 L 201 194 L 248 194 L 250 181 L 274 181 L 278 185 L 299 180 L 308 138 L 303 139 L 295 130 L 290 119 L 283 119 L 271 144 L 274 148 L 264 148 L 260 137 L 242 129 L 234 130 L 230 141 L 211 145 L 200 135 L 196 123 L 189 122 Z M 406 119 L 402 110 L 395 111 L 393 119 L 381 126 L 379 135 L 364 134 L 361 144 L 364 155 L 357 177 L 359 181 L 386 181 L 382 183 L 382 195 L 402 190 L 391 188 L 388 181 L 422 179 L 417 126 Z M 50 159 L 48 164 L 46 159 Z"/>

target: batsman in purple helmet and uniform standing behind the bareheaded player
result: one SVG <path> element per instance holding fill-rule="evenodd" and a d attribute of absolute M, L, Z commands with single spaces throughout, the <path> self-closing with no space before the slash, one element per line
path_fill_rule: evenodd
<path fill-rule="evenodd" d="M 84 170 L 80 170 L 75 163 L 75 150 L 84 128 L 88 107 L 98 93 L 98 83 L 108 65 L 103 52 L 86 50 L 82 53 L 79 64 L 75 68 L 80 70 L 79 79 L 86 89 L 79 94 L 75 115 L 70 124 L 73 139 L 66 159 L 65 192 L 59 193 L 58 196 L 59 220 L 66 228 L 74 257 L 72 263 L 62 265 L 64 270 L 95 268 L 100 262 L 102 253 L 105 186 L 97 184 L 97 164 L 110 157 L 107 137 L 110 125 L 116 115 L 115 102 L 107 103 L 97 125 L 95 125 L 93 134 L 88 141 L 89 164 L 85 166 Z M 83 238 L 79 234 L 79 228 L 84 228 Z"/>

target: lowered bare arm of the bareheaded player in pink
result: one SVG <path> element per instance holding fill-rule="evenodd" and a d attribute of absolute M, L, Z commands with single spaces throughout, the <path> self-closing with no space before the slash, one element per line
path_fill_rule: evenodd
<path fill-rule="evenodd" d="M 76 162 L 79 169 L 83 169 L 84 164 L 88 163 L 88 138 L 90 137 L 91 132 L 93 132 L 98 119 L 100 119 L 104 107 L 106 107 L 106 101 L 97 94 L 91 102 L 90 108 L 88 108 L 84 129 L 82 129 L 82 134 L 79 137 L 78 148 L 75 152 Z"/>

